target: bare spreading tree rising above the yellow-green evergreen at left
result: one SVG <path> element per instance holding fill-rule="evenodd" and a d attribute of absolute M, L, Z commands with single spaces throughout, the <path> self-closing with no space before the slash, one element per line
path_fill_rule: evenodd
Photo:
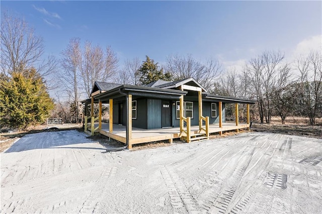
<path fill-rule="evenodd" d="M 44 42 L 36 36 L 35 29 L 21 18 L 5 13 L 1 20 L 1 72 L 10 76 L 23 73 L 34 67 L 42 77 L 56 70 L 57 60 L 53 56 L 43 59 Z M 47 83 L 51 79 L 47 78 Z"/>

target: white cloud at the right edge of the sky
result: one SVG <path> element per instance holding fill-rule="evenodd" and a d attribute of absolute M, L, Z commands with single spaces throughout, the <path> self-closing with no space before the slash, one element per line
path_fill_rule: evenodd
<path fill-rule="evenodd" d="M 304 39 L 296 45 L 293 51 L 293 57 L 299 55 L 306 55 L 311 51 L 321 51 L 322 50 L 322 35 L 311 36 Z"/>

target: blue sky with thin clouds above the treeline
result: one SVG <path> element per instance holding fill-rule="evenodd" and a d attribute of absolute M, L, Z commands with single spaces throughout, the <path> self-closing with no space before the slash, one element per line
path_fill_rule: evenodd
<path fill-rule="evenodd" d="M 322 2 L 1 1 L 1 13 L 24 17 L 59 58 L 69 39 L 110 45 L 125 59 L 171 54 L 217 58 L 240 66 L 264 50 L 286 57 L 320 47 Z"/>

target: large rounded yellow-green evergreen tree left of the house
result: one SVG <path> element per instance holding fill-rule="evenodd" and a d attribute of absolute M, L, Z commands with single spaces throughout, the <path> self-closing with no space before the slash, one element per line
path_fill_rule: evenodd
<path fill-rule="evenodd" d="M 2 126 L 25 129 L 31 124 L 43 123 L 54 108 L 45 83 L 34 68 L 1 78 L 0 86 Z"/>

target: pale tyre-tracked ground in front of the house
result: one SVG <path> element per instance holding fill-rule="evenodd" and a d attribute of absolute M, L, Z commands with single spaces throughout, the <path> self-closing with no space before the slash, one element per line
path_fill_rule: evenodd
<path fill-rule="evenodd" d="M 321 213 L 322 141 L 244 133 L 104 153 L 77 131 L 1 154 L 0 212 Z"/>

